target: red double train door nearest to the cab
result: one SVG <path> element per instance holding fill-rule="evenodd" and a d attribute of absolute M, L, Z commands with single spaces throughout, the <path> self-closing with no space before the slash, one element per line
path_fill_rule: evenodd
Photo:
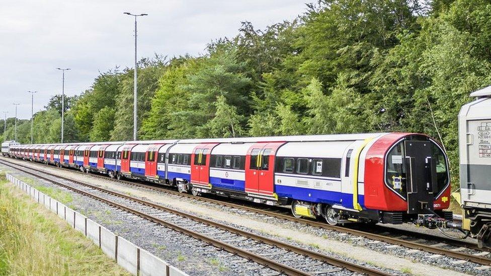
<path fill-rule="evenodd" d="M 251 146 L 246 156 L 246 192 L 273 195 L 276 151 L 284 143 L 257 143 Z"/>

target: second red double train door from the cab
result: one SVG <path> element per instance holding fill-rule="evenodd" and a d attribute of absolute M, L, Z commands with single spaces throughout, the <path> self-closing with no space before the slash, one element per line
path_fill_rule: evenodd
<path fill-rule="evenodd" d="M 218 145 L 201 144 L 194 148 L 191 154 L 191 182 L 208 185 L 210 183 L 210 154 L 211 150 Z"/>

